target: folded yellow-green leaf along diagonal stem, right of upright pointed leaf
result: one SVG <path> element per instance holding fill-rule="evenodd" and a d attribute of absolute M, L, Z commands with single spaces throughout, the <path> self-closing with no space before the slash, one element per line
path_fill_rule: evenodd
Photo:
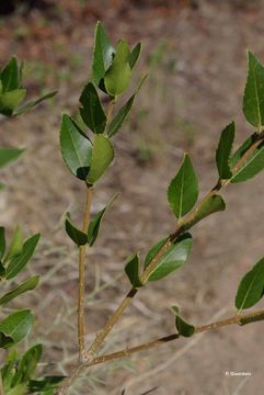
<path fill-rule="evenodd" d="M 197 224 L 199 221 L 204 219 L 208 215 L 223 210 L 226 210 L 226 203 L 222 196 L 214 193 L 199 204 L 192 217 L 182 225 L 183 229 L 188 230 L 191 227 L 193 227 L 195 224 Z"/>

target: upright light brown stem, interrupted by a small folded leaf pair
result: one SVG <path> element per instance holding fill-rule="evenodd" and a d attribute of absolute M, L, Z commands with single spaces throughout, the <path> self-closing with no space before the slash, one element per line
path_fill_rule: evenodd
<path fill-rule="evenodd" d="M 90 221 L 92 203 L 92 187 L 87 185 L 87 200 L 84 205 L 83 213 L 83 233 L 88 233 L 88 226 Z M 84 270 L 85 270 L 85 252 L 87 246 L 79 247 L 79 287 L 78 287 L 78 343 L 79 343 L 79 358 L 83 358 L 85 350 L 85 340 L 84 340 L 84 328 L 85 328 L 85 318 L 84 318 Z"/>

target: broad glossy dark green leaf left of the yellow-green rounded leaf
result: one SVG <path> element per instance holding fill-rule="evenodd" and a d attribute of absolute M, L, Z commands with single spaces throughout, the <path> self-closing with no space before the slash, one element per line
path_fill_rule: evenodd
<path fill-rule="evenodd" d="M 66 166 L 80 180 L 85 180 L 92 156 L 92 144 L 68 115 L 62 115 L 60 150 Z"/>

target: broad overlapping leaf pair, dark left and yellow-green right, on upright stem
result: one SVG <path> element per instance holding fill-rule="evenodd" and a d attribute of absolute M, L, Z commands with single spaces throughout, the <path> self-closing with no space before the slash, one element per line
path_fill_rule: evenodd
<path fill-rule="evenodd" d="M 110 139 L 96 134 L 93 144 L 68 115 L 62 116 L 60 150 L 69 170 L 89 184 L 96 182 L 114 158 Z"/>

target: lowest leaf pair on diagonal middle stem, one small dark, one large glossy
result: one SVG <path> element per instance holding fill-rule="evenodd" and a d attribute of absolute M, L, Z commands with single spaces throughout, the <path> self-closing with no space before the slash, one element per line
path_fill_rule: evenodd
<path fill-rule="evenodd" d="M 165 242 L 167 238 L 160 240 L 156 246 L 150 249 L 145 259 L 145 270 Z M 174 272 L 175 270 L 180 269 L 187 261 L 192 245 L 193 239 L 190 234 L 184 234 L 180 236 L 159 259 L 157 266 L 150 272 L 146 282 L 161 280 L 170 273 Z M 140 287 L 144 285 L 140 279 L 140 260 L 138 253 L 127 260 L 125 266 L 125 272 L 134 287 Z"/>

